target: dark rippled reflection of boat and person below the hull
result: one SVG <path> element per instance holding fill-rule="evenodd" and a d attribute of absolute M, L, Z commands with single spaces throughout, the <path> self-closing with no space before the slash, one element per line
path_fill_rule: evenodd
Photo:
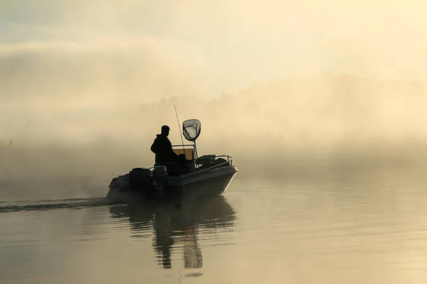
<path fill-rule="evenodd" d="M 199 230 L 209 237 L 234 225 L 235 212 L 224 196 L 186 198 L 167 203 L 144 202 L 110 207 L 113 218 L 128 218 L 133 237 L 153 230 L 153 248 L 163 268 L 171 268 L 173 248 L 182 248 L 185 268 L 203 265 Z"/>

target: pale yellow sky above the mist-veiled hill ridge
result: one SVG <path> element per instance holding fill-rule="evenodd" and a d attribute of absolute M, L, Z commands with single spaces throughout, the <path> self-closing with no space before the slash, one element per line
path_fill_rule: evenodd
<path fill-rule="evenodd" d="M 2 0 L 0 72 L 24 76 L 17 66 L 43 62 L 39 71 L 48 75 L 57 72 L 52 65 L 71 64 L 68 78 L 103 70 L 119 86 L 131 84 L 154 97 L 180 93 L 177 89 L 214 97 L 254 81 L 307 74 L 426 80 L 426 6 L 423 1 Z"/>

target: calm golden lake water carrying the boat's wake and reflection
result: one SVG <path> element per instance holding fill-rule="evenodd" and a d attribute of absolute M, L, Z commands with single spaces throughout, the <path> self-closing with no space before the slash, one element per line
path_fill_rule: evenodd
<path fill-rule="evenodd" d="M 224 196 L 0 203 L 1 283 L 424 283 L 427 180 L 237 175 Z"/>

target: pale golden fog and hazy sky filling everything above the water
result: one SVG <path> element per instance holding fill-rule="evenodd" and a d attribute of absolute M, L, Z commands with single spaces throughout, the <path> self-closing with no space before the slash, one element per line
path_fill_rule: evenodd
<path fill-rule="evenodd" d="M 0 179 L 103 192 L 181 143 L 174 104 L 241 176 L 424 166 L 421 5 L 0 2 Z"/>

